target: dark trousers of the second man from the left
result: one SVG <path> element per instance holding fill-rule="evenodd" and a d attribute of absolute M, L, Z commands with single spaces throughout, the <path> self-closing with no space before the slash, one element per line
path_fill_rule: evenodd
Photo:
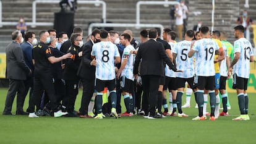
<path fill-rule="evenodd" d="M 28 101 L 28 107 L 31 106 L 33 103 L 32 103 L 32 95 L 33 95 L 33 91 L 34 91 L 34 77 L 27 77 L 27 80 L 24 80 L 24 85 L 25 85 L 25 93 L 24 93 L 24 98 L 23 98 L 23 104 L 24 104 L 24 101 L 25 101 L 25 98 L 28 94 L 28 91 L 29 91 L 29 101 Z M 22 106 L 23 107 L 23 106 Z"/>

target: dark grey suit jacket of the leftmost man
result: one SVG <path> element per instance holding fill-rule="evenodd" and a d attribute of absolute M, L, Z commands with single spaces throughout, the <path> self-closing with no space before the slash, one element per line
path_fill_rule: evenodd
<path fill-rule="evenodd" d="M 20 44 L 12 41 L 6 47 L 6 78 L 25 80 L 30 69 L 25 64 Z"/>

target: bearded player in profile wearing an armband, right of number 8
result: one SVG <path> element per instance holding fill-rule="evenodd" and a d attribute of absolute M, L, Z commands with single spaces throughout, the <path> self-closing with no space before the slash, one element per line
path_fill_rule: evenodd
<path fill-rule="evenodd" d="M 126 112 L 121 114 L 121 116 L 133 116 L 132 111 L 132 91 L 134 91 L 134 54 L 130 54 L 130 51 L 135 51 L 134 47 L 130 44 L 130 35 L 128 33 L 123 33 L 121 35 L 121 44 L 126 46 L 124 52 L 122 53 L 121 67 L 118 70 L 116 77 L 121 76 L 121 89 L 122 95 L 124 96 L 124 104 L 126 106 Z"/>

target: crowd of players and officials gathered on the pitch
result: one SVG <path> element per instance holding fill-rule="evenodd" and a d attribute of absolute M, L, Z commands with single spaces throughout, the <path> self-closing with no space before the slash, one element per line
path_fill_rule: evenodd
<path fill-rule="evenodd" d="M 210 32 L 205 26 L 196 33 L 187 30 L 184 40 L 178 42 L 176 32 L 169 28 L 164 29 L 163 40 L 159 28 L 149 28 L 140 32 L 141 43 L 133 38 L 131 30 L 119 35 L 114 30 L 95 29 L 86 43 L 80 27 L 74 28 L 69 40 L 65 32 L 57 36 L 56 30 L 42 30 L 39 41 L 34 32 L 26 32 L 24 41 L 16 30 L 6 48 L 10 83 L 2 114 L 12 115 L 17 93 L 16 114 L 28 117 L 188 117 L 182 108 L 190 107 L 194 91 L 198 116 L 192 120 L 205 120 L 209 114 L 214 121 L 228 116 L 226 80 L 233 74 L 241 112 L 233 120 L 249 120 L 246 90 L 253 49 L 244 38 L 244 30 L 242 25 L 234 27 L 234 47 L 227 41 L 226 32 Z M 75 111 L 80 83 L 82 100 Z M 186 104 L 182 106 L 186 83 Z M 24 111 L 29 90 L 28 108 Z M 103 103 L 106 90 L 108 102 Z M 206 111 L 208 95 L 210 113 Z M 121 96 L 125 112 L 121 112 Z"/>

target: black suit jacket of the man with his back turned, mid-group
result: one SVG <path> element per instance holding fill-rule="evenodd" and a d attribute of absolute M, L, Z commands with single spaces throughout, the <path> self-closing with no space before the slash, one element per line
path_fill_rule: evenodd
<path fill-rule="evenodd" d="M 140 75 L 159 75 L 164 77 L 163 61 L 174 71 L 177 70 L 166 55 L 163 44 L 153 39 L 140 44 L 134 63 L 134 74 L 138 74 L 140 59 L 142 59 Z"/>

